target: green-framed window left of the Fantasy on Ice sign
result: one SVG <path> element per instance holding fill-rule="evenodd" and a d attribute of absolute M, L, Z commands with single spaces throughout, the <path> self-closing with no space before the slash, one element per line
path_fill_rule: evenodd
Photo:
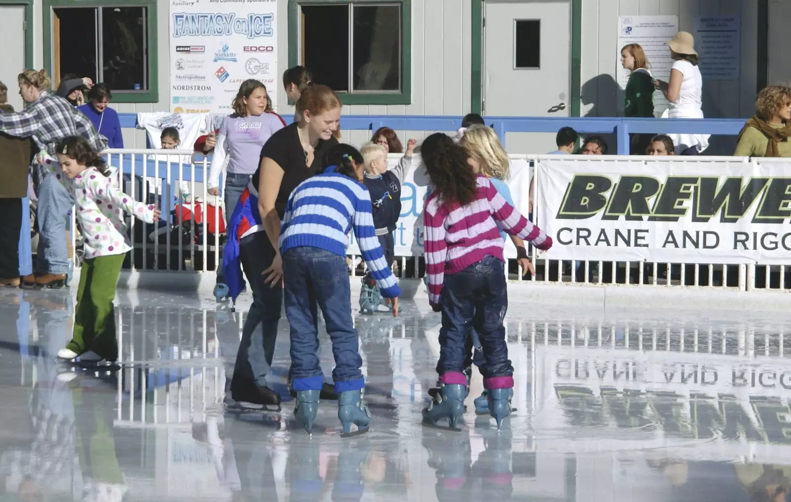
<path fill-rule="evenodd" d="M 107 84 L 113 101 L 158 101 L 155 1 L 45 0 L 44 8 L 44 57 L 56 86 L 89 77 Z"/>

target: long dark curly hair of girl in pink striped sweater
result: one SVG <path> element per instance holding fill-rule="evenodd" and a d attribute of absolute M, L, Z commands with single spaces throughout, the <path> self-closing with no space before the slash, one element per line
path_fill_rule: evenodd
<path fill-rule="evenodd" d="M 435 132 L 423 141 L 420 153 L 433 191 L 441 200 L 462 206 L 475 200 L 478 183 L 467 164 L 464 147 L 453 143 L 450 136 Z"/>

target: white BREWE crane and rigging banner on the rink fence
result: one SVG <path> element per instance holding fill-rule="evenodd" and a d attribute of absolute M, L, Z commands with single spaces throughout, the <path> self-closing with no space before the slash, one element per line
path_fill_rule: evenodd
<path fill-rule="evenodd" d="M 539 162 L 539 226 L 558 260 L 791 263 L 788 165 Z"/>

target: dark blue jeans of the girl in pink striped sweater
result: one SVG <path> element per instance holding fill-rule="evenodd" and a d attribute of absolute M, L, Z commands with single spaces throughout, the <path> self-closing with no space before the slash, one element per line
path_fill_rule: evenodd
<path fill-rule="evenodd" d="M 442 328 L 437 373 L 464 372 L 465 359 L 469 355 L 465 341 L 472 328 L 478 333 L 483 348 L 479 369 L 484 386 L 487 378 L 513 376 L 502 325 L 505 311 L 508 310 L 502 261 L 485 257 L 461 272 L 446 274 L 440 303 Z"/>

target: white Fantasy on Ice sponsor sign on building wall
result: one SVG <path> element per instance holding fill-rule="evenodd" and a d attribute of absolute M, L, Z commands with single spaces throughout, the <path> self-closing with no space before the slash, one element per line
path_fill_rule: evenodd
<path fill-rule="evenodd" d="M 277 97 L 277 0 L 170 0 L 170 110 L 230 113 L 239 86 L 255 78 Z"/>

